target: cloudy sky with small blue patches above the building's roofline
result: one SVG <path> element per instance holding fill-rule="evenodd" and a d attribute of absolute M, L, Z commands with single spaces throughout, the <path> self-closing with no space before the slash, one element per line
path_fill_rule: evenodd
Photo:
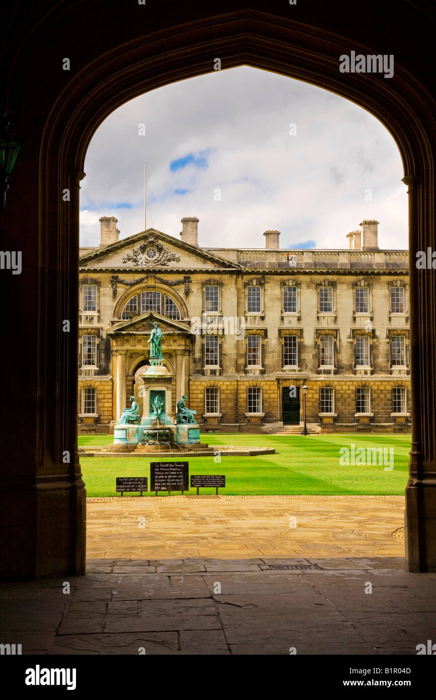
<path fill-rule="evenodd" d="M 145 127 L 145 128 L 144 128 Z M 145 132 L 145 134 L 144 134 Z M 199 246 L 348 248 L 365 218 L 379 247 L 407 248 L 407 188 L 391 134 L 328 90 L 249 66 L 160 87 L 111 113 L 94 133 L 80 183 L 80 245 L 98 246 L 100 216 L 120 239 L 147 228 Z"/>

